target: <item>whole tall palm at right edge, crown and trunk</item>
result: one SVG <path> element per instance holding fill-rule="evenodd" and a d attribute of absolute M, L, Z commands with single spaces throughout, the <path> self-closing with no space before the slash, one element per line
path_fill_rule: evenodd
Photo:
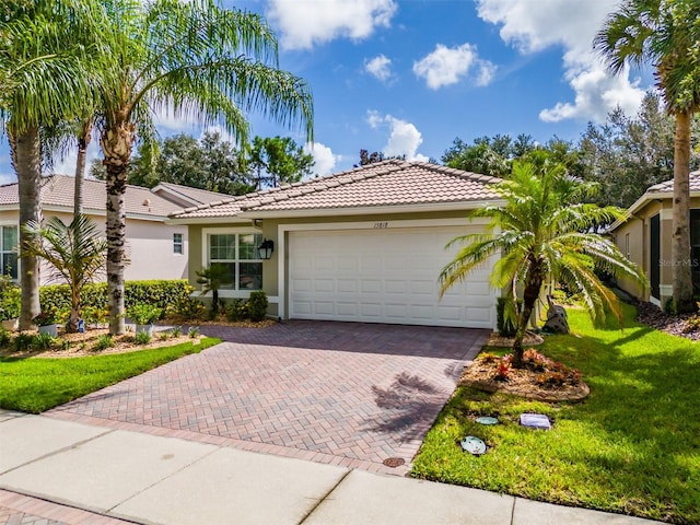
<path fill-rule="evenodd" d="M 679 313 L 696 307 L 689 264 L 689 173 L 690 125 L 700 109 L 699 18 L 697 0 L 626 0 L 608 16 L 593 43 L 614 74 L 628 66 L 651 63 L 666 109 L 676 119 L 672 257 L 674 307 Z"/>

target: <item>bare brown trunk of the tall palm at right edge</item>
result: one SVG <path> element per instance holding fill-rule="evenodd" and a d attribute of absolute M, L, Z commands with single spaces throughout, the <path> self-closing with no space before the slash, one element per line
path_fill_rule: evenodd
<path fill-rule="evenodd" d="M 674 307 L 692 312 L 692 265 L 690 258 L 690 121 L 692 114 L 676 114 L 674 140 L 674 207 L 672 258 L 674 262 Z"/>

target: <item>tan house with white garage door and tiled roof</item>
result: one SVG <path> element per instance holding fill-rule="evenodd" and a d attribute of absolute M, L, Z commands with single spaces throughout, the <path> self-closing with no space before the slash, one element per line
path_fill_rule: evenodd
<path fill-rule="evenodd" d="M 270 315 L 495 327 L 493 259 L 439 299 L 458 235 L 485 231 L 471 210 L 495 202 L 498 179 L 389 160 L 323 178 L 192 207 L 167 221 L 189 229 L 189 279 L 226 265 L 222 298 L 264 290 Z M 269 260 L 258 254 L 272 241 Z"/>

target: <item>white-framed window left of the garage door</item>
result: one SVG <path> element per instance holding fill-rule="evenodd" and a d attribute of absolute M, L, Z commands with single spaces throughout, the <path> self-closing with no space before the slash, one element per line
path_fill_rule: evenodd
<path fill-rule="evenodd" d="M 259 233 L 214 233 L 208 235 L 207 264 L 223 265 L 226 269 L 222 290 L 261 290 L 262 261 L 257 247 L 262 243 Z"/>

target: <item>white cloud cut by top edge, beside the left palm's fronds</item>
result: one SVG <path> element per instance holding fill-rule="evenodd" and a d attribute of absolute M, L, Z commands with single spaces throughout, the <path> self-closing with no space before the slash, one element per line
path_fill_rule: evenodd
<path fill-rule="evenodd" d="M 308 49 L 335 38 L 366 38 L 388 27 L 396 9 L 394 0 L 271 0 L 266 14 L 284 48 Z"/>

